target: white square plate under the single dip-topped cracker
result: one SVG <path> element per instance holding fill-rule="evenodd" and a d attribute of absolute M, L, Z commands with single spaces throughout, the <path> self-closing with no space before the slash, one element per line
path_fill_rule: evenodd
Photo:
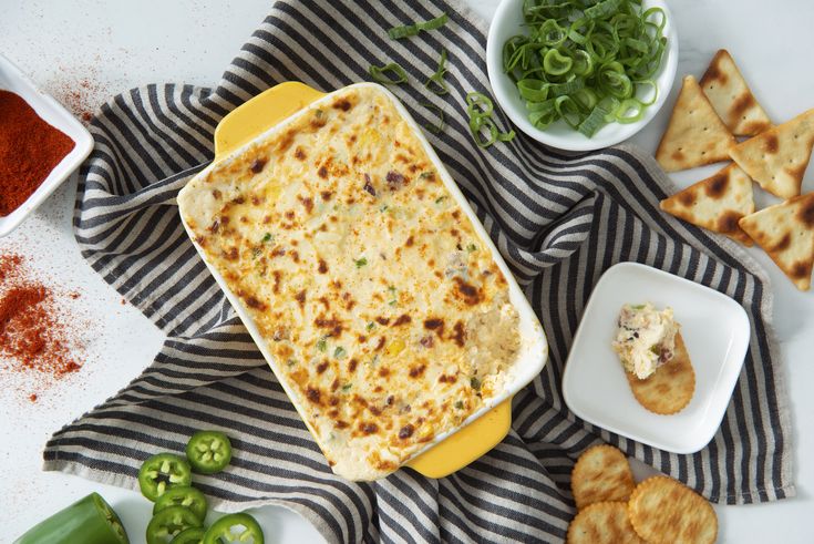
<path fill-rule="evenodd" d="M 624 304 L 670 306 L 695 371 L 690 403 L 672 415 L 633 398 L 610 347 Z M 749 348 L 744 309 L 715 290 L 638 263 L 620 263 L 597 283 L 574 337 L 563 377 L 568 408 L 608 431 L 674 453 L 694 453 L 721 425 Z"/>

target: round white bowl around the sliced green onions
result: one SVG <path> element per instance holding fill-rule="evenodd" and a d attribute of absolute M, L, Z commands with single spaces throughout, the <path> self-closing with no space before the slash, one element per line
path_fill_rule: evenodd
<path fill-rule="evenodd" d="M 523 0 L 503 0 L 497 7 L 492 25 L 490 27 L 488 41 L 486 43 L 486 68 L 488 70 L 490 83 L 492 84 L 492 92 L 497 103 L 519 130 L 538 142 L 559 150 L 599 150 L 631 137 L 643 129 L 664 104 L 667 96 L 670 94 L 678 66 L 678 37 L 676 34 L 672 13 L 670 13 L 667 4 L 661 0 L 645 0 L 643 7 L 645 9 L 659 7 L 664 10 L 667 24 L 663 32 L 667 37 L 667 48 L 661 66 L 653 76 L 658 88 L 656 102 L 647 106 L 643 116 L 636 123 L 609 123 L 597 131 L 593 137 L 583 135 L 561 120 L 552 123 L 543 131 L 532 125 L 528 121 L 526 104 L 521 99 L 517 86 L 503 71 L 503 44 L 511 37 L 522 32 Z M 639 97 L 649 97 L 652 91 L 647 89 Z"/>

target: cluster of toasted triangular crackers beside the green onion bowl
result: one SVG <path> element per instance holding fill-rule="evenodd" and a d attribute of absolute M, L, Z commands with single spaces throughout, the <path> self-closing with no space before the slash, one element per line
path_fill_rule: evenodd
<path fill-rule="evenodd" d="M 733 134 L 752 137 L 735 143 Z M 666 198 L 661 209 L 746 246 L 756 242 L 800 290 L 808 290 L 814 197 L 800 194 L 812 150 L 814 109 L 772 126 L 732 55 L 722 49 L 700 85 L 691 75 L 684 78 L 656 158 L 667 172 L 730 157 L 734 164 Z M 785 202 L 755 213 L 752 179 Z"/>

